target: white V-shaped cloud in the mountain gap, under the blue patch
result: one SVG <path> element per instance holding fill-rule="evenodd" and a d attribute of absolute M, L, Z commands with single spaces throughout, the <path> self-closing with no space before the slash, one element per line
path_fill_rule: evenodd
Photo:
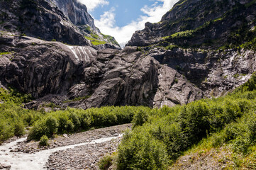
<path fill-rule="evenodd" d="M 132 21 L 127 26 L 118 27 L 115 25 L 115 8 L 101 15 L 99 20 L 95 20 L 95 25 L 102 33 L 112 35 L 119 44 L 128 42 L 135 30 L 142 30 L 145 28 L 145 23 L 157 23 L 162 16 L 169 11 L 178 0 L 156 0 L 152 6 L 144 6 L 141 11 L 145 15 L 139 16 L 136 21 Z M 157 2 L 162 2 L 161 4 Z"/>

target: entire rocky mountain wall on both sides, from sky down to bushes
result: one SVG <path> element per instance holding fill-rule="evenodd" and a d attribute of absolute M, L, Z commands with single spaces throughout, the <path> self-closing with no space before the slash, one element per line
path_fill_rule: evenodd
<path fill-rule="evenodd" d="M 255 1 L 179 1 L 123 50 L 100 50 L 87 41 L 99 34 L 77 18 L 87 11 L 81 4 L 36 1 L 23 7 L 23 1 L 1 1 L 0 81 L 32 94 L 28 108 L 174 106 L 225 95 L 256 69 Z M 8 3 L 13 8 L 7 10 Z M 40 22 L 18 18 L 15 10 L 22 17 L 32 12 Z M 46 41 L 53 38 L 69 45 Z"/>

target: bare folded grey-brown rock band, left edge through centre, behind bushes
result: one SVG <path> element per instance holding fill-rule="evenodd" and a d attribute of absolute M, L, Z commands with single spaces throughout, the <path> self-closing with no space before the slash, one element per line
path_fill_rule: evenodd
<path fill-rule="evenodd" d="M 161 106 L 188 103 L 203 94 L 174 69 L 136 47 L 96 51 L 11 33 L 1 40 L 10 42 L 1 50 L 12 51 L 0 57 L 1 82 L 38 98 L 29 108 L 45 102 L 79 108 Z"/>

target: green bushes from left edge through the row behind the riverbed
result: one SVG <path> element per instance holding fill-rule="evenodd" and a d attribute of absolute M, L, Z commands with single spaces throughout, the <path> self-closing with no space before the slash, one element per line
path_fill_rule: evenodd
<path fill-rule="evenodd" d="M 30 101 L 30 95 L 18 91 L 0 89 L 0 143 L 13 135 L 24 134 L 24 127 L 33 126 L 28 134 L 28 140 L 40 140 L 46 135 L 77 132 L 90 128 L 102 128 L 111 125 L 130 123 L 134 113 L 148 113 L 146 107 L 103 107 L 90 108 L 86 111 L 67 108 L 65 111 L 32 111 L 21 107 L 22 103 Z"/>

